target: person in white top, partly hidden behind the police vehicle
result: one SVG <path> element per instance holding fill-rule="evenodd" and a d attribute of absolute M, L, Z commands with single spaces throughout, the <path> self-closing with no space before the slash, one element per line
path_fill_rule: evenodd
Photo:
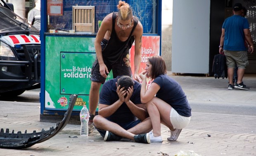
<path fill-rule="evenodd" d="M 28 23 L 40 30 L 41 28 L 41 1 L 35 0 L 35 7 L 28 12 Z"/>

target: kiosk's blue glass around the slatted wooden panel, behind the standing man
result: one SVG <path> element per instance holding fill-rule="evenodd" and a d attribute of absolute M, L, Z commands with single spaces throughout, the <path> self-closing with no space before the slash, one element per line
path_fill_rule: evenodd
<path fill-rule="evenodd" d="M 57 5 L 55 9 L 60 14 L 53 16 L 48 9 L 47 30 L 72 30 L 72 6 L 95 6 L 95 33 L 99 30 L 98 21 L 113 12 L 117 11 L 116 5 L 119 0 L 47 0 L 47 6 L 52 2 L 62 2 L 62 6 Z M 133 9 L 134 16 L 137 16 L 143 25 L 143 33 L 156 33 L 156 17 L 158 0 L 126 0 Z M 83 20 L 76 19 L 76 20 Z M 84 18 L 84 20 L 92 20 Z"/>

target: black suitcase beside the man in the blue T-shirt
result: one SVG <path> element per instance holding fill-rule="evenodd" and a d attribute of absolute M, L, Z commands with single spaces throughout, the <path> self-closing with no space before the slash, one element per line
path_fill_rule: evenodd
<path fill-rule="evenodd" d="M 214 56 L 212 73 L 214 74 L 214 78 L 228 78 L 225 55 L 217 54 Z"/>

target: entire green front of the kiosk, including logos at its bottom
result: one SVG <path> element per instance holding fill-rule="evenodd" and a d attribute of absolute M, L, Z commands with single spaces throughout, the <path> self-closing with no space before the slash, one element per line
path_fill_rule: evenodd
<path fill-rule="evenodd" d="M 45 37 L 45 110 L 66 111 L 69 95 L 78 94 L 73 111 L 89 108 L 90 77 L 96 53 L 94 37 Z M 65 45 L 65 46 L 64 46 Z M 113 78 L 109 73 L 107 80 Z"/>

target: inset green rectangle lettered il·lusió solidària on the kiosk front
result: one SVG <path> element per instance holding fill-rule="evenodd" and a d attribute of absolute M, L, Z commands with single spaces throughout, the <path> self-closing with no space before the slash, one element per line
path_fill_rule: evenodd
<path fill-rule="evenodd" d="M 60 53 L 60 94 L 89 95 L 95 53 Z"/>

